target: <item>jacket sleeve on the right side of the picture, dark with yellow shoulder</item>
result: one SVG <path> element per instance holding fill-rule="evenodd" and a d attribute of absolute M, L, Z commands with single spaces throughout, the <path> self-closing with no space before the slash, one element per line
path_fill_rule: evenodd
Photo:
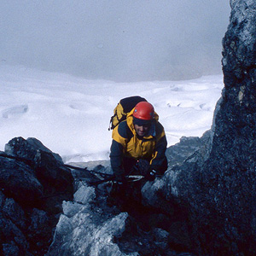
<path fill-rule="evenodd" d="M 150 165 L 153 170 L 157 171 L 159 174 L 163 174 L 167 170 L 167 159 L 166 159 L 166 133 L 164 127 L 157 124 L 156 127 L 156 145 L 154 147 L 154 156 L 150 161 Z"/>

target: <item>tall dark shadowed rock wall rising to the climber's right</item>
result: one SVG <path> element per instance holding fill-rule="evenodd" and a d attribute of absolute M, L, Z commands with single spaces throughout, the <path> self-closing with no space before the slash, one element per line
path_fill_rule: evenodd
<path fill-rule="evenodd" d="M 256 2 L 230 6 L 212 137 L 167 172 L 169 186 L 161 188 L 167 199 L 188 204 L 194 249 L 202 255 L 256 253 Z"/>

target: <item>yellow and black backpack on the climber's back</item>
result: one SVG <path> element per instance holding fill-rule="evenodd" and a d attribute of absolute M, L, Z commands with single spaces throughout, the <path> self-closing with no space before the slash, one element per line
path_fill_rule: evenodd
<path fill-rule="evenodd" d="M 131 112 L 138 102 L 147 102 L 147 100 L 141 96 L 130 96 L 121 99 L 113 109 L 113 116 L 110 119 L 108 130 L 110 131 L 119 125 L 120 122 L 124 121 L 127 113 Z"/>

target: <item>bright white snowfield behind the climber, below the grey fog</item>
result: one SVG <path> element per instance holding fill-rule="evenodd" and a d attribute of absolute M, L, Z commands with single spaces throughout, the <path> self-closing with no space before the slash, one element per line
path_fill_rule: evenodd
<path fill-rule="evenodd" d="M 113 108 L 135 95 L 154 105 L 171 146 L 211 127 L 223 87 L 222 75 L 115 83 L 1 65 L 0 150 L 13 137 L 36 137 L 66 161 L 107 160 Z"/>

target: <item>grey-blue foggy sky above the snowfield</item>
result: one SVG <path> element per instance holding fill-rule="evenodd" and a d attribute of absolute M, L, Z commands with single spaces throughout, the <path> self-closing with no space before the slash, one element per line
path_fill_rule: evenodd
<path fill-rule="evenodd" d="M 221 73 L 228 0 L 0 1 L 2 63 L 113 81 Z"/>

